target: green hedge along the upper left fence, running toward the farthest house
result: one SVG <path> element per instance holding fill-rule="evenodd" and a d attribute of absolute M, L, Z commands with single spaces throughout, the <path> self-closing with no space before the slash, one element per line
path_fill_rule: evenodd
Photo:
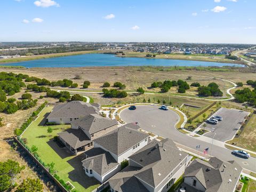
<path fill-rule="evenodd" d="M 27 119 L 26 122 L 24 122 L 20 128 L 16 128 L 14 130 L 14 134 L 16 136 L 22 135 L 22 133 L 27 129 L 27 127 L 37 118 L 38 114 L 45 108 L 47 104 L 47 101 L 45 101 L 41 106 L 39 106 Z"/>

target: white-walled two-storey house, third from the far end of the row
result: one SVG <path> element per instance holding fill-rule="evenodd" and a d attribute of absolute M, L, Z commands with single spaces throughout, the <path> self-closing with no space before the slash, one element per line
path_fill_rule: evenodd
<path fill-rule="evenodd" d="M 131 127 L 124 125 L 93 141 L 82 161 L 86 175 L 105 182 L 121 170 L 121 162 L 148 145 L 149 135 Z"/>

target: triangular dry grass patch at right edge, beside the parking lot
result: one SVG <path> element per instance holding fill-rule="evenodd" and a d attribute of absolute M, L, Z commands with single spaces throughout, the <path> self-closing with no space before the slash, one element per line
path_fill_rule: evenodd
<path fill-rule="evenodd" d="M 249 122 L 244 127 L 243 132 L 238 138 L 228 141 L 227 143 L 236 143 L 236 146 L 248 150 L 256 151 L 256 115 L 253 114 Z M 235 146 L 234 146 L 235 147 Z"/>

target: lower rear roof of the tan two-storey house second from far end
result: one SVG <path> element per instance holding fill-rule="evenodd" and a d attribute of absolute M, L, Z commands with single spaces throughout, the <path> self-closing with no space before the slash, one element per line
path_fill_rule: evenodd
<path fill-rule="evenodd" d="M 73 149 L 85 146 L 91 142 L 87 135 L 81 129 L 69 129 L 58 133 L 59 137 L 63 139 Z"/>

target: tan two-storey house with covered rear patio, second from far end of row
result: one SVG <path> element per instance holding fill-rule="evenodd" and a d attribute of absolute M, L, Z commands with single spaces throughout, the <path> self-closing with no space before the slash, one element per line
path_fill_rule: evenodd
<path fill-rule="evenodd" d="M 71 129 L 58 133 L 62 143 L 74 154 L 93 147 L 93 140 L 117 129 L 116 119 L 89 114 L 71 122 Z"/>

